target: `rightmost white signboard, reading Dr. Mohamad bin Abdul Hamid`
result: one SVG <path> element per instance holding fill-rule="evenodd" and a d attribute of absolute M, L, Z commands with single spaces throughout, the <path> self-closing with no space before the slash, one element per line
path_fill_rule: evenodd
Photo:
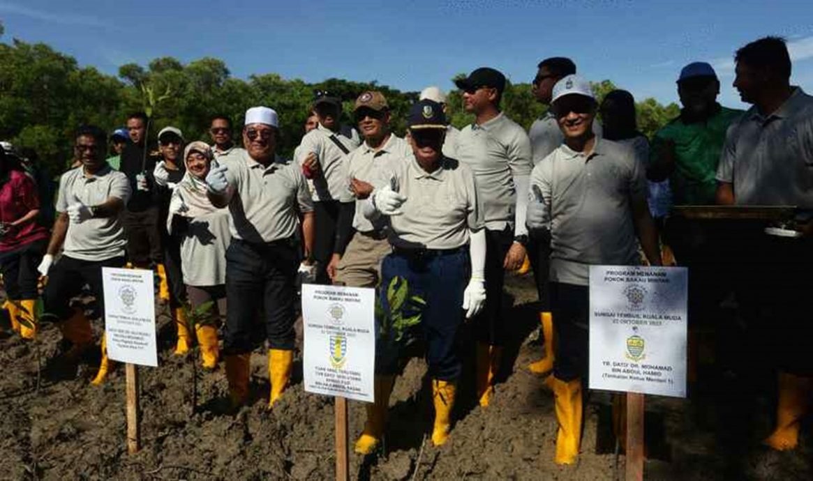
<path fill-rule="evenodd" d="M 590 388 L 686 396 L 684 267 L 590 267 Z"/>

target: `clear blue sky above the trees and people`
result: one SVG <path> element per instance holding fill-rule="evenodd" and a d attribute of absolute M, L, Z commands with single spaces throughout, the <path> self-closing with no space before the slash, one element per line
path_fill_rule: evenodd
<path fill-rule="evenodd" d="M 768 34 L 788 38 L 793 81 L 813 92 L 811 19 L 811 0 L 0 0 L 3 41 L 42 41 L 113 74 L 160 56 L 213 56 L 241 78 L 276 72 L 448 90 L 456 73 L 484 65 L 527 82 L 541 58 L 564 55 L 589 80 L 672 102 L 680 67 L 706 60 L 729 106 L 742 106 L 731 87 L 733 51 Z"/>

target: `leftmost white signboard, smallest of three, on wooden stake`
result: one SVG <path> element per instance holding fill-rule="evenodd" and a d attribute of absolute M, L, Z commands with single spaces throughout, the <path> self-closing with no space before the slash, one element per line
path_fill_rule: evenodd
<path fill-rule="evenodd" d="M 158 366 L 153 271 L 102 267 L 107 356 Z"/>

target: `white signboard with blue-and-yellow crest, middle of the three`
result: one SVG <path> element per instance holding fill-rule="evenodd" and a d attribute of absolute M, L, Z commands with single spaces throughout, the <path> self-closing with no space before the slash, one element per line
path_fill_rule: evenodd
<path fill-rule="evenodd" d="M 305 390 L 373 401 L 376 291 L 302 284 Z"/>

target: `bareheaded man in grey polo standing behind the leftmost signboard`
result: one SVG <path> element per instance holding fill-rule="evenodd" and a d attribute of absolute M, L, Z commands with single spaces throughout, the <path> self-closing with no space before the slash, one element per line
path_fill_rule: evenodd
<path fill-rule="evenodd" d="M 93 342 L 84 310 L 72 309 L 72 297 L 87 284 L 103 313 L 102 267 L 124 267 L 126 262 L 120 213 L 130 197 L 130 185 L 127 176 L 105 162 L 106 147 L 107 135 L 101 128 L 88 126 L 76 132 L 74 148 L 81 166 L 59 179 L 58 217 L 37 267 L 48 277 L 45 312 L 59 319 L 63 338 L 71 343 L 66 352 L 69 361 L 76 361 Z M 62 257 L 54 263 L 59 249 Z"/>

